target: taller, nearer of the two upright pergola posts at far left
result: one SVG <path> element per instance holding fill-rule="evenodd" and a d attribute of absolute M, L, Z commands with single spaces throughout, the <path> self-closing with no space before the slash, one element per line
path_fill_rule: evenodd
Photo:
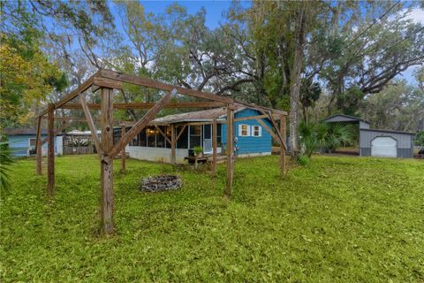
<path fill-rule="evenodd" d="M 55 192 L 55 104 L 49 103 L 47 108 L 47 194 L 51 198 Z"/>

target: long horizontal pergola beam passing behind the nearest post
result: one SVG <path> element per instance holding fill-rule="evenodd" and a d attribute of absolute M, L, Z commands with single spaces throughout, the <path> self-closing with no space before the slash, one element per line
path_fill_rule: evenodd
<path fill-rule="evenodd" d="M 165 108 L 180 109 L 180 108 L 218 108 L 224 107 L 225 103 L 216 102 L 170 102 Z M 87 103 L 89 109 L 100 110 L 100 104 Z M 113 103 L 113 109 L 150 109 L 155 106 L 155 103 Z M 62 105 L 62 109 L 78 110 L 81 109 L 80 103 L 66 103 Z"/>

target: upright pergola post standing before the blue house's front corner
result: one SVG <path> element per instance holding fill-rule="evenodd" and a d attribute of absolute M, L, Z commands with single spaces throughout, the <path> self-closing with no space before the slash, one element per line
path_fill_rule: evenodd
<path fill-rule="evenodd" d="M 232 178 L 234 176 L 234 109 L 227 106 L 227 187 L 225 196 L 231 196 Z"/>

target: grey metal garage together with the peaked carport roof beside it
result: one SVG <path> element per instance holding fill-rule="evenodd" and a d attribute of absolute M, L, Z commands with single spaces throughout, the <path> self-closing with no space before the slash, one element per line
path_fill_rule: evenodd
<path fill-rule="evenodd" d="M 413 157 L 413 133 L 371 129 L 366 120 L 345 114 L 330 116 L 322 122 L 358 125 L 361 157 Z"/>

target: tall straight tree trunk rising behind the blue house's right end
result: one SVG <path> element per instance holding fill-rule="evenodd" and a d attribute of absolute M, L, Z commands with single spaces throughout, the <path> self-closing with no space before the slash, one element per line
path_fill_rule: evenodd
<path fill-rule="evenodd" d="M 299 124 L 299 102 L 301 72 L 303 66 L 303 50 L 305 48 L 305 25 L 306 25 L 307 2 L 299 3 L 299 11 L 295 19 L 295 42 L 294 57 L 292 67 L 292 80 L 290 87 L 290 143 L 292 146 L 292 157 L 297 157 L 299 153 L 298 124 Z"/>

